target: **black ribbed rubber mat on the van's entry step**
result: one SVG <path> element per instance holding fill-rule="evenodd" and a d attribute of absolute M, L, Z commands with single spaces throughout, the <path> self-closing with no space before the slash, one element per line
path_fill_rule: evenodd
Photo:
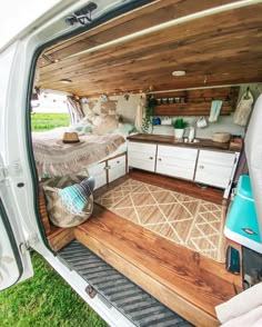
<path fill-rule="evenodd" d="M 192 326 L 104 262 L 81 242 L 73 240 L 59 251 L 59 256 L 67 266 L 77 271 L 100 296 L 135 326 Z"/>

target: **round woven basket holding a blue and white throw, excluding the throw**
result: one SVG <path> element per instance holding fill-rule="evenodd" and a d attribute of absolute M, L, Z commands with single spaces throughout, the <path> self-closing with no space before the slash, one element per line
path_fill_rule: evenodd
<path fill-rule="evenodd" d="M 63 205 L 59 189 L 79 184 L 87 176 L 54 177 L 42 184 L 42 188 L 47 199 L 47 210 L 49 219 L 58 227 L 69 228 L 84 222 L 93 211 L 93 196 L 89 197 L 88 204 L 81 215 L 73 215 L 68 211 Z"/>

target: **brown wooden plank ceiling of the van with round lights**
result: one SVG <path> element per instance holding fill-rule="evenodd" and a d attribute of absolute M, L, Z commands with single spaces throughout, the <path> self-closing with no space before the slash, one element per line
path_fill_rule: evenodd
<path fill-rule="evenodd" d="M 224 3 L 153 1 L 54 44 L 39 58 L 36 86 L 80 97 L 262 81 L 262 4 L 181 23 L 87 54 L 70 54 L 119 37 Z M 173 77 L 184 70 L 183 77 Z M 70 79 L 63 85 L 61 79 Z"/>

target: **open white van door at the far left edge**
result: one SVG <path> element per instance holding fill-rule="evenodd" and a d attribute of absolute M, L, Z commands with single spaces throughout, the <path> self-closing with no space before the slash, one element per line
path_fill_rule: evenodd
<path fill-rule="evenodd" d="M 18 190 L 20 190 L 19 195 L 27 194 L 24 187 L 19 188 L 19 182 L 24 180 L 21 179 L 19 152 L 14 147 L 18 143 L 19 126 L 16 123 L 16 117 L 8 119 L 6 110 L 10 101 L 12 101 L 10 106 L 16 106 L 17 93 L 11 98 L 8 97 L 14 54 L 16 47 L 0 52 L 0 290 L 32 276 L 31 259 L 27 250 L 29 236 L 26 237 L 24 224 L 22 226 L 21 219 L 21 212 L 26 218 L 28 216 L 27 202 L 23 201 L 23 206 L 18 208 L 19 198 L 16 195 Z M 12 142 L 9 141 L 10 139 Z"/>

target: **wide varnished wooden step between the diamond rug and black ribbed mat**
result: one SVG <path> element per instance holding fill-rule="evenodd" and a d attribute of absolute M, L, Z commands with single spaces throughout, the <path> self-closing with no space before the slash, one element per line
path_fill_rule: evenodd
<path fill-rule="evenodd" d="M 95 205 L 75 238 L 165 306 L 196 326 L 218 326 L 214 307 L 241 289 L 224 265 Z M 234 285 L 233 285 L 234 284 Z"/>

